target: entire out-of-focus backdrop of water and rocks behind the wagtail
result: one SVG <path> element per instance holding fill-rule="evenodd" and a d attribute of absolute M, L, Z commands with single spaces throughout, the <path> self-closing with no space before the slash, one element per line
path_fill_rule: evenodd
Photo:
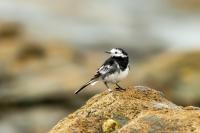
<path fill-rule="evenodd" d="M 112 47 L 131 56 L 123 86 L 200 106 L 199 9 L 197 0 L 0 0 L 0 132 L 47 132 L 104 91 L 73 95 Z"/>

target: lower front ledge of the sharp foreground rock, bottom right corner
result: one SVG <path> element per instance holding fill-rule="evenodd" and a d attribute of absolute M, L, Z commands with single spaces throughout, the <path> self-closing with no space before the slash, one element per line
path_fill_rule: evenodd
<path fill-rule="evenodd" d="M 148 110 L 122 127 L 120 133 L 199 132 L 200 111 Z"/>

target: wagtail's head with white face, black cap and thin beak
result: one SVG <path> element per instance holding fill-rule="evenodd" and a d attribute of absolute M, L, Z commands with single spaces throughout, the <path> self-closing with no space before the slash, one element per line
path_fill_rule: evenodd
<path fill-rule="evenodd" d="M 126 51 L 121 48 L 113 48 L 110 51 L 106 51 L 106 53 L 110 54 L 112 57 L 128 57 Z"/>

